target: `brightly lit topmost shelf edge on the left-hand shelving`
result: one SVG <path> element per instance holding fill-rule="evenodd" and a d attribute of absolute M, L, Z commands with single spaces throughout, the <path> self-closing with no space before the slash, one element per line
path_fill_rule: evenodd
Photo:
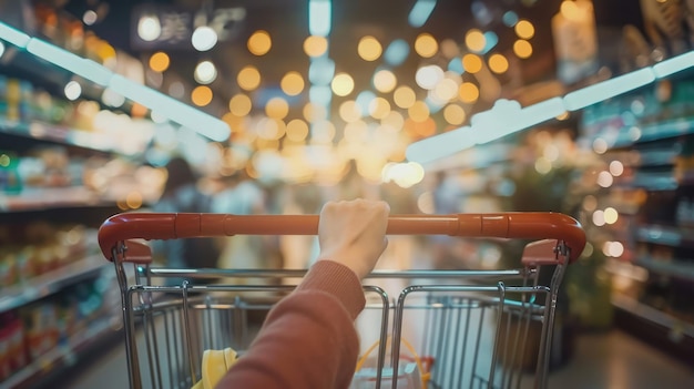
<path fill-rule="evenodd" d="M 23 136 L 102 153 L 133 154 L 132 150 L 119 147 L 120 143 L 113 136 L 41 122 L 10 121 L 0 116 L 0 134 Z"/>

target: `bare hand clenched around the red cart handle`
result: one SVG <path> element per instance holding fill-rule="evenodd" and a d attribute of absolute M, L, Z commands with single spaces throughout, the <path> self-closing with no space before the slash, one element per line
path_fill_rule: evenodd
<path fill-rule="evenodd" d="M 354 199 L 328 202 L 318 222 L 318 260 L 334 260 L 364 279 L 388 246 L 386 227 L 390 206 L 385 202 Z"/>

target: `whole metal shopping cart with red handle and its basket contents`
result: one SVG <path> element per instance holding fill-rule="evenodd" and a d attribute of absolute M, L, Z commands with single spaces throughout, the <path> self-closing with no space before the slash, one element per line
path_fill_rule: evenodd
<path fill-rule="evenodd" d="M 154 267 L 143 239 L 317 231 L 317 215 L 124 213 L 104 222 L 99 242 L 120 283 L 131 387 L 192 388 L 207 372 L 201 361 L 212 350 L 233 349 L 243 358 L 263 315 L 293 289 L 286 279 L 305 273 Z M 531 243 L 517 269 L 374 272 L 357 319 L 363 357 L 353 388 L 547 387 L 558 288 L 585 245 L 575 219 L 557 213 L 392 215 L 387 234 Z M 547 285 L 539 284 L 541 268 L 552 272 Z M 185 280 L 161 286 L 171 278 Z M 394 280 L 401 288 L 391 299 L 381 286 Z"/>

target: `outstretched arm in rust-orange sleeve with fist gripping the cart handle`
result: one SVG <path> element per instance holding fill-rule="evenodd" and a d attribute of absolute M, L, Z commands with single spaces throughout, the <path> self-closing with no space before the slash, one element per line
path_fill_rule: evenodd
<path fill-rule="evenodd" d="M 268 314 L 261 332 L 216 388 L 348 388 L 359 339 L 361 280 L 386 249 L 389 206 L 329 202 L 320 212 L 318 262 Z"/>

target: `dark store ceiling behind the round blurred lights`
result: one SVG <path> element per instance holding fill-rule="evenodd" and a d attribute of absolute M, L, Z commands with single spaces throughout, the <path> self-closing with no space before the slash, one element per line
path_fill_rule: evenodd
<path fill-rule="evenodd" d="M 132 44 L 132 12 L 143 4 L 155 7 L 181 7 L 191 10 L 244 8 L 245 19 L 235 23 L 231 39 L 220 42 L 205 53 L 196 52 L 192 47 L 171 51 L 172 68 L 164 74 L 169 80 L 183 79 L 190 88 L 195 85 L 192 74 L 195 65 L 203 59 L 212 60 L 218 69 L 218 78 L 211 84 L 215 102 L 204 108 L 222 115 L 228 100 L 241 92 L 236 83 L 237 72 L 245 65 L 253 64 L 262 74 L 263 83 L 255 91 L 261 99 L 263 92 L 278 90 L 280 78 L 288 71 L 298 71 L 307 78 L 309 58 L 303 52 L 302 44 L 308 32 L 308 1 L 306 0 L 52 0 L 54 7 L 62 8 L 75 18 L 81 18 L 88 9 L 108 6 L 108 12 L 98 23 L 89 29 L 114 47 L 125 50 L 144 61 L 153 50 L 141 50 Z M 553 79 L 554 55 L 551 41 L 550 19 L 557 13 L 560 0 L 439 0 L 427 23 L 420 28 L 408 24 L 408 13 L 415 0 L 351 0 L 333 1 L 333 27 L 329 39 L 329 58 L 335 61 L 336 72 L 347 72 L 355 80 L 355 91 L 369 89 L 370 80 L 382 61 L 366 62 L 357 54 L 357 42 L 364 35 L 377 38 L 384 49 L 395 39 L 405 39 L 410 44 L 421 32 L 431 33 L 437 40 L 451 39 L 462 44 L 466 31 L 471 28 L 490 30 L 499 37 L 496 52 L 509 53 L 516 39 L 513 29 L 503 24 L 502 16 L 507 11 L 517 12 L 520 19 L 528 19 L 535 25 L 532 38 L 534 54 L 518 61 L 518 69 L 512 75 L 500 75 L 501 84 L 519 86 L 537 81 Z M 596 1 L 596 19 L 601 25 L 623 25 L 639 23 L 639 0 Z M 105 6 L 104 6 L 105 4 Z M 483 4 L 482 7 L 480 7 Z M 473 12 L 474 11 L 474 12 Z M 256 30 L 266 30 L 273 39 L 272 50 L 255 57 L 246 48 L 246 40 Z M 422 60 L 415 53 L 392 71 L 401 83 L 414 84 L 418 66 L 426 62 L 441 59 Z M 511 80 L 513 79 L 513 80 Z M 355 92 L 356 93 L 356 92 Z M 354 96 L 348 96 L 353 98 Z M 338 103 L 339 99 L 334 100 Z M 472 110 L 481 110 L 489 102 L 481 101 Z"/>

